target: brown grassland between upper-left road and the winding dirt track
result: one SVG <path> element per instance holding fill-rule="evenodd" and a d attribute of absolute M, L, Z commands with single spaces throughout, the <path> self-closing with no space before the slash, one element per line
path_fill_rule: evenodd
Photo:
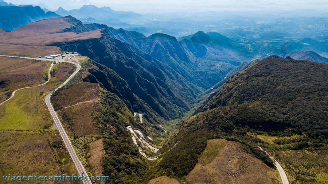
<path fill-rule="evenodd" d="M 45 82 L 50 62 L 0 57 L 0 66 L 0 81 L 6 81 L 5 87 L 0 88 L 2 102 L 16 89 Z"/>

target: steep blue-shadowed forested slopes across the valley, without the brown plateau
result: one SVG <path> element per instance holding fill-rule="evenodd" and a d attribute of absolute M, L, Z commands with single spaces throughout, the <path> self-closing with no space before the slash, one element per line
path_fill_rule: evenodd
<path fill-rule="evenodd" d="M 100 30 L 102 35 L 97 39 L 58 42 L 49 46 L 77 51 L 113 69 L 129 84 L 132 92 L 154 110 L 151 113 L 165 120 L 180 117 L 187 112 L 191 108 L 189 101 L 236 67 L 215 60 L 207 62 L 201 58 L 195 59 L 183 43 L 169 35 L 154 34 L 145 37 L 135 31 L 113 29 L 106 25 L 83 25 L 73 17 L 65 21 L 72 25 L 71 28 L 59 32 L 79 34 Z M 130 99 L 130 109 L 150 113 L 138 107 L 130 97 L 123 95 L 122 98 Z"/>

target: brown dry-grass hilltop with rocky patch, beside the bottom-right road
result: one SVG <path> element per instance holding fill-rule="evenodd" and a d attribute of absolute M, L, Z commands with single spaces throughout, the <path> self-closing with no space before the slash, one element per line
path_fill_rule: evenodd
<path fill-rule="evenodd" d="M 279 183 L 277 172 L 254 156 L 245 153 L 240 143 L 224 139 L 208 141 L 205 152 L 202 154 L 195 168 L 186 176 L 187 181 L 195 184 L 244 184 L 244 183 Z M 213 158 L 213 155 L 215 158 Z M 203 157 L 203 158 L 202 158 Z M 207 162 L 209 161 L 209 162 Z"/>

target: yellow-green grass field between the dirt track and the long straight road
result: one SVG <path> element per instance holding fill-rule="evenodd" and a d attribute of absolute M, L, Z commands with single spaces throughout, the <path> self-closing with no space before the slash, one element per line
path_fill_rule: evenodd
<path fill-rule="evenodd" d="M 44 70 L 49 71 L 46 65 Z M 61 175 L 49 139 L 66 174 L 77 174 L 45 105 L 45 96 L 73 70 L 72 64 L 56 64 L 54 78 L 45 85 L 18 90 L 0 106 L 0 172 L 2 175 Z M 25 182 L 28 183 L 28 182 Z"/>

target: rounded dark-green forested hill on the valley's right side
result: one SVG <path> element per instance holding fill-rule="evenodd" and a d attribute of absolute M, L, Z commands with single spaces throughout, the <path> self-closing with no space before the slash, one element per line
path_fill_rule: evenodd
<path fill-rule="evenodd" d="M 270 160 L 256 148 L 256 144 L 262 144 L 287 162 L 293 180 L 320 181 L 320 173 L 328 170 L 323 164 L 327 163 L 327 153 L 320 151 L 328 144 L 327 71 L 327 64 L 278 56 L 258 61 L 230 78 L 200 113 L 179 126 L 171 143 L 179 140 L 176 149 L 163 157 L 161 166 L 170 175 L 187 175 L 190 169 L 184 165 L 186 157 L 190 158 L 187 165 L 193 165 L 196 155 L 206 147 L 205 140 L 225 138 L 243 143 L 246 150 L 270 166 Z M 285 155 L 304 149 L 308 151 L 302 162 L 316 160 L 318 165 L 301 168 L 299 158 Z M 309 175 L 311 172 L 316 174 Z"/>

